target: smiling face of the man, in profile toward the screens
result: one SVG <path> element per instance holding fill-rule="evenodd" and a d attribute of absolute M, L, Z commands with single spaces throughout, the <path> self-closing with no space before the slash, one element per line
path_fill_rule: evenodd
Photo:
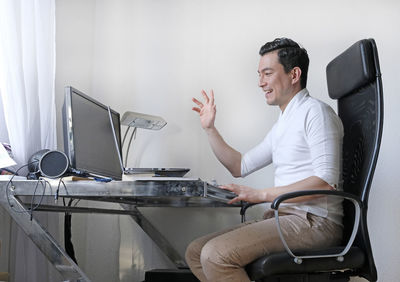
<path fill-rule="evenodd" d="M 278 51 L 272 51 L 260 58 L 258 66 L 259 86 L 265 93 L 268 105 L 277 105 L 284 111 L 293 93 L 292 74 L 285 73 L 279 63 Z"/>

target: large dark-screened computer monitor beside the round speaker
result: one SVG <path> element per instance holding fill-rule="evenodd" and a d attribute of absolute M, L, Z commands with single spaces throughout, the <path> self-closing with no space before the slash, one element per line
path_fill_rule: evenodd
<path fill-rule="evenodd" d="M 120 115 L 112 111 L 121 148 Z M 67 86 L 63 105 L 64 151 L 71 166 L 91 174 L 122 179 L 107 106 Z"/>

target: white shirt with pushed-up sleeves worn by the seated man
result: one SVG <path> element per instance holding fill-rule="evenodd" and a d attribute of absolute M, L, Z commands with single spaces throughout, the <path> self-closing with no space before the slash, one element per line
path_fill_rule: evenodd
<path fill-rule="evenodd" d="M 304 88 L 292 98 L 264 140 L 243 155 L 241 175 L 273 163 L 275 186 L 317 176 L 341 189 L 342 139 L 340 118 Z M 341 202 L 337 197 L 321 197 L 289 206 L 341 224 Z"/>

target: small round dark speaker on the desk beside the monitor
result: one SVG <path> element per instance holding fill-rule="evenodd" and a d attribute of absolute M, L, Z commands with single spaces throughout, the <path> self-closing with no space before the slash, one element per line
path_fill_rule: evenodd
<path fill-rule="evenodd" d="M 57 150 L 40 150 L 29 158 L 28 169 L 44 177 L 58 178 L 67 173 L 69 159 L 66 154 Z"/>

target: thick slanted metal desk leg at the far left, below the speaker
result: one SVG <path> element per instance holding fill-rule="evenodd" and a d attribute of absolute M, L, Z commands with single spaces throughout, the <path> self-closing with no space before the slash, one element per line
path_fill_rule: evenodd
<path fill-rule="evenodd" d="M 21 202 L 10 192 L 9 199 L 13 208 L 7 201 L 5 187 L 0 187 L 0 204 L 10 214 L 13 220 L 25 232 L 25 234 L 35 243 L 40 251 L 54 265 L 65 281 L 90 282 L 90 279 L 58 245 L 57 241 L 45 231 L 45 229 L 34 218 L 30 220 L 30 215 L 23 211 L 25 208 Z"/>

